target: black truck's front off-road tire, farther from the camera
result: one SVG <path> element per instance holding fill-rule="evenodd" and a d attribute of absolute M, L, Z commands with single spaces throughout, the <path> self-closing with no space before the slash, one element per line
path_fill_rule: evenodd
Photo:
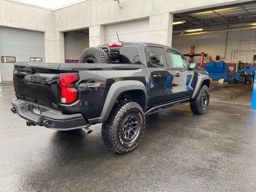
<path fill-rule="evenodd" d="M 206 104 L 204 100 L 205 94 L 207 96 Z M 194 114 L 198 114 L 198 115 L 204 114 L 208 108 L 209 99 L 210 99 L 209 88 L 206 85 L 202 85 L 196 95 L 196 98 L 190 101 L 190 109 Z"/>

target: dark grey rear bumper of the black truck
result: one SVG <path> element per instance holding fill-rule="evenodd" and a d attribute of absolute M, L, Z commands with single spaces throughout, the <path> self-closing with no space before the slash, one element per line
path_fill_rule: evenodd
<path fill-rule="evenodd" d="M 22 99 L 12 100 L 12 112 L 26 119 L 29 125 L 45 126 L 56 130 L 72 130 L 88 126 L 82 114 L 62 114 L 58 110 Z M 34 108 L 40 114 L 34 113 Z"/>

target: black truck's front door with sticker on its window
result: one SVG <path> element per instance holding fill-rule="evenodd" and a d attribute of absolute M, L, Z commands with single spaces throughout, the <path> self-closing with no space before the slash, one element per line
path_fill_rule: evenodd
<path fill-rule="evenodd" d="M 167 52 L 174 75 L 172 81 L 173 99 L 192 96 L 196 77 L 194 72 L 188 68 L 188 61 L 175 50 L 168 49 Z"/>

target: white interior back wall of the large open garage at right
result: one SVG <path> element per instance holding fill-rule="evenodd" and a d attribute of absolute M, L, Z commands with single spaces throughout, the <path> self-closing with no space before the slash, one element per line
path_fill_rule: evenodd
<path fill-rule="evenodd" d="M 173 37 L 172 46 L 178 49 L 182 54 L 190 53 L 190 46 L 195 46 L 194 53 L 201 53 L 204 51 L 208 56 L 212 56 L 212 60 L 215 61 L 216 55 L 219 55 L 221 58 L 225 55 L 225 46 L 226 46 L 226 36 L 227 32 L 218 32 L 210 34 L 201 34 L 201 35 L 191 35 L 191 36 L 180 36 Z M 242 31 L 232 31 L 228 32 L 227 48 L 226 48 L 226 62 L 236 62 L 231 58 L 231 51 L 238 49 L 239 40 L 256 40 L 256 30 L 242 30 Z M 256 49 L 256 43 L 250 42 L 245 43 L 241 42 L 240 50 Z M 253 55 L 255 52 L 240 52 L 238 61 L 252 63 Z M 234 54 L 233 54 L 234 55 Z M 186 57 L 189 58 L 189 57 Z M 221 59 L 222 60 L 222 59 Z M 200 56 L 194 57 L 195 62 L 200 62 Z M 206 62 L 206 58 L 204 60 Z"/>

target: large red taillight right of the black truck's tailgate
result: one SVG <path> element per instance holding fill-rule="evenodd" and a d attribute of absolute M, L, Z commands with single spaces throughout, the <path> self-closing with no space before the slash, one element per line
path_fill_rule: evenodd
<path fill-rule="evenodd" d="M 75 82 L 78 81 L 77 73 L 60 74 L 60 102 L 70 104 L 77 100 L 78 90 L 75 88 Z"/>

